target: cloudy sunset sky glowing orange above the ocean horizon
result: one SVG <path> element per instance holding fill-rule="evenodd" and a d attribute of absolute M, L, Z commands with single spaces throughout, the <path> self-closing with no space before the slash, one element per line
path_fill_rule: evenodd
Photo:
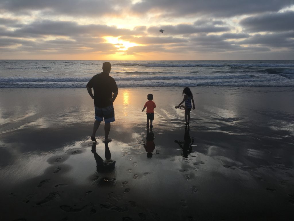
<path fill-rule="evenodd" d="M 294 0 L 0 0 L 0 59 L 294 60 Z"/>

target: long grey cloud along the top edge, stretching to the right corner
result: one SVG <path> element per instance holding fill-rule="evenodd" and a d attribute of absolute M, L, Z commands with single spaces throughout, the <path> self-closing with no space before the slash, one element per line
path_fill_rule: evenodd
<path fill-rule="evenodd" d="M 134 13 L 162 13 L 165 16 L 205 15 L 213 17 L 232 17 L 267 11 L 279 11 L 293 4 L 293 0 L 143 0 L 132 6 Z"/>

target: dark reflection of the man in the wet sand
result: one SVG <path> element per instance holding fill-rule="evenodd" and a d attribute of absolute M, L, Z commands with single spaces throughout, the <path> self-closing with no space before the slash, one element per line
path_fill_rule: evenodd
<path fill-rule="evenodd" d="M 109 142 L 105 142 L 105 160 L 101 158 L 96 152 L 97 143 L 93 143 L 92 145 L 92 153 L 94 154 L 94 158 L 96 160 L 96 169 L 97 173 L 100 177 L 98 181 L 98 185 L 113 185 L 115 184 L 116 179 L 115 176 L 115 161 L 111 159 L 111 153 L 108 147 Z"/>

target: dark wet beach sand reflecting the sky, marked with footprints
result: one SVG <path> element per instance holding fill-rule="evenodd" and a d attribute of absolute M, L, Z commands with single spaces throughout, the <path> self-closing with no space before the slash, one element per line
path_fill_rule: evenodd
<path fill-rule="evenodd" d="M 191 88 L 189 128 L 182 90 L 119 88 L 93 144 L 86 88 L 0 89 L 1 220 L 292 220 L 294 89 Z"/>

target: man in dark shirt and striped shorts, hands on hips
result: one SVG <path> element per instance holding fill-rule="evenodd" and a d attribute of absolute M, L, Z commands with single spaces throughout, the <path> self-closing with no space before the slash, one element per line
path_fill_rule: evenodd
<path fill-rule="evenodd" d="M 111 138 L 108 138 L 110 131 L 110 123 L 115 121 L 113 102 L 118 95 L 118 88 L 115 80 L 109 76 L 111 70 L 111 64 L 104 62 L 102 65 L 102 72 L 94 75 L 87 84 L 87 90 L 92 99 L 94 99 L 95 106 L 95 122 L 93 126 L 93 133 L 91 140 L 96 142 L 96 131 L 100 126 L 101 121 L 104 118 L 104 142 L 110 142 Z M 94 95 L 92 93 L 94 90 Z"/>

